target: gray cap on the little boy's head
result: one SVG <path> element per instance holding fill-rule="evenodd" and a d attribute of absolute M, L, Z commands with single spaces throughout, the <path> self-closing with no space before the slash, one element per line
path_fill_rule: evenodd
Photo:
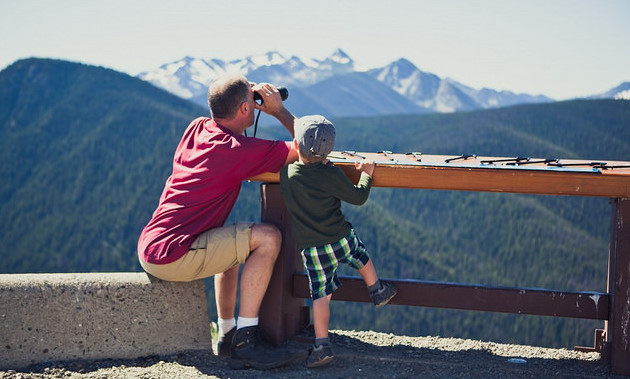
<path fill-rule="evenodd" d="M 324 116 L 304 116 L 293 125 L 300 154 L 306 159 L 326 158 L 335 147 L 335 126 Z"/>

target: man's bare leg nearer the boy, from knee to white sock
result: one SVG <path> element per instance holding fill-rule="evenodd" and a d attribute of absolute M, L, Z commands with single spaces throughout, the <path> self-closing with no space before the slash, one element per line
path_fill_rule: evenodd
<path fill-rule="evenodd" d="M 251 253 L 241 273 L 239 317 L 258 317 L 281 244 L 282 235 L 275 226 L 269 224 L 252 226 L 249 240 Z"/>

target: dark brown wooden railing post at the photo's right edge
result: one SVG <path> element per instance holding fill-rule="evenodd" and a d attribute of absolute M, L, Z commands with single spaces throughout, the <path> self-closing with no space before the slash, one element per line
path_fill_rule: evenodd
<path fill-rule="evenodd" d="M 610 229 L 606 353 L 615 374 L 630 375 L 630 199 L 612 199 Z"/>

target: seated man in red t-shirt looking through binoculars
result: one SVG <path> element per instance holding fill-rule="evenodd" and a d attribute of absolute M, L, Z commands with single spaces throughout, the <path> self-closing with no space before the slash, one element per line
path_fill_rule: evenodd
<path fill-rule="evenodd" d="M 262 97 L 261 104 L 254 101 L 254 92 Z M 147 273 L 164 280 L 214 275 L 219 354 L 231 355 L 233 366 L 277 367 L 290 358 L 263 346 L 258 311 L 280 251 L 280 231 L 268 224 L 224 223 L 243 180 L 278 172 L 297 159 L 290 142 L 243 135 L 254 123 L 254 111 L 274 116 L 291 136 L 295 117 L 274 86 L 253 85 L 242 75 L 214 81 L 208 105 L 212 118 L 193 120 L 175 151 L 173 172 L 140 235 L 138 257 Z M 237 322 L 239 265 L 243 270 Z"/>

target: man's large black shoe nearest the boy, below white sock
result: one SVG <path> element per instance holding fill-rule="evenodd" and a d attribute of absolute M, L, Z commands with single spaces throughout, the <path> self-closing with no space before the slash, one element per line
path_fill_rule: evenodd
<path fill-rule="evenodd" d="M 233 369 L 255 368 L 269 370 L 290 364 L 303 357 L 299 352 L 292 352 L 281 347 L 274 347 L 264 342 L 257 326 L 238 329 L 232 340 Z"/>

